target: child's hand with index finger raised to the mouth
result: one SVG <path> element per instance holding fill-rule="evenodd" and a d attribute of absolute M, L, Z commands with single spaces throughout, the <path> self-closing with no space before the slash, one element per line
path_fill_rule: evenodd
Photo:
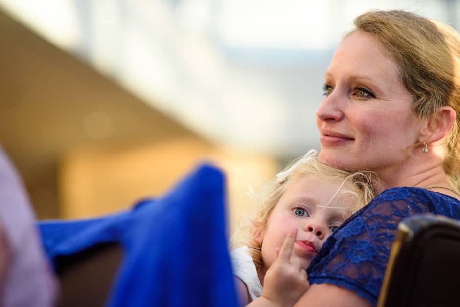
<path fill-rule="evenodd" d="M 275 262 L 265 273 L 262 296 L 277 306 L 292 306 L 310 287 L 305 269 L 298 259 L 290 260 L 297 228 L 292 228 L 284 239 Z"/>

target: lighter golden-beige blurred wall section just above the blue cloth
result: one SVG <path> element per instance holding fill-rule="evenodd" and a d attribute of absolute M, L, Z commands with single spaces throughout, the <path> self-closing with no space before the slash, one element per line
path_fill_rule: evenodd
<path fill-rule="evenodd" d="M 145 197 L 167 193 L 200 163 L 226 175 L 229 229 L 243 214 L 253 215 L 249 185 L 261 186 L 276 172 L 273 158 L 183 138 L 125 148 L 72 151 L 61 164 L 62 217 L 83 218 L 126 209 Z"/>

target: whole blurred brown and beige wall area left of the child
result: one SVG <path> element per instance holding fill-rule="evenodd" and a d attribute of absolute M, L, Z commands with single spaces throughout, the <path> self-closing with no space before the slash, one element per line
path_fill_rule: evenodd
<path fill-rule="evenodd" d="M 0 143 L 39 219 L 88 217 L 164 193 L 202 158 L 228 174 L 231 225 L 273 157 L 220 148 L 0 10 Z M 233 226 L 232 226 L 233 227 Z"/>

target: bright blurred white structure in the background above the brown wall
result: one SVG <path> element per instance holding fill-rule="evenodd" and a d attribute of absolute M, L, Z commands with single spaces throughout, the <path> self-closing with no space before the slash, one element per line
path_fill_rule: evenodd
<path fill-rule="evenodd" d="M 460 28 L 460 0 L 0 0 L 3 9 L 207 138 L 319 149 L 323 74 L 352 20 L 401 8 Z"/>

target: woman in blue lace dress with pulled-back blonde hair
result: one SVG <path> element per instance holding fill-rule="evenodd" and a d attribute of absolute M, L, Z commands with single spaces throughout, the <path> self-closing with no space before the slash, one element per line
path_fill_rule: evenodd
<path fill-rule="evenodd" d="M 405 11 L 368 12 L 355 26 L 325 75 L 319 158 L 374 171 L 381 193 L 324 243 L 296 306 L 375 305 L 399 221 L 460 219 L 459 34 Z"/>

